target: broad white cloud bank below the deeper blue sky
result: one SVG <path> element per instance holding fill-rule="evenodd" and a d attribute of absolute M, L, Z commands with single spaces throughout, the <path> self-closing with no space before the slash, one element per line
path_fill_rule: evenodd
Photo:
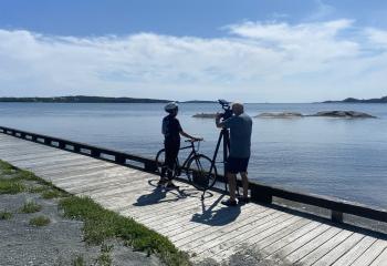
<path fill-rule="evenodd" d="M 244 22 L 213 39 L 0 30 L 0 94 L 255 102 L 377 96 L 387 81 L 387 32 L 351 31 L 353 23 Z"/>

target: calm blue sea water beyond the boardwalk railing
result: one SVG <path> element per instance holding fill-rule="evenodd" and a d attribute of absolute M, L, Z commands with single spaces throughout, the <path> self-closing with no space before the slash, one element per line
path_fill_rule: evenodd
<path fill-rule="evenodd" d="M 163 146 L 163 106 L 0 103 L 0 124 L 154 157 Z M 250 177 L 387 207 L 386 104 L 247 104 L 252 116 L 328 110 L 367 112 L 378 119 L 254 119 Z M 212 120 L 191 116 L 217 111 L 218 104 L 180 105 L 178 117 L 184 130 L 205 137 L 200 151 L 207 155 L 212 154 L 219 131 Z"/>

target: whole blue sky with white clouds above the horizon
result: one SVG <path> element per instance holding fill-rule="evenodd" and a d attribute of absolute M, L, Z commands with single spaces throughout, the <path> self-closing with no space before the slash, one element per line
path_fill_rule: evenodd
<path fill-rule="evenodd" d="M 0 96 L 387 95 L 383 0 L 1 0 Z"/>

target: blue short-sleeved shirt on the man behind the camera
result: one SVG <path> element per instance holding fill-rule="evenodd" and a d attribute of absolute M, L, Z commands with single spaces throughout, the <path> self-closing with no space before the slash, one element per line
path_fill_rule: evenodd
<path fill-rule="evenodd" d="M 250 157 L 251 147 L 251 117 L 242 113 L 233 115 L 223 122 L 224 127 L 230 129 L 230 157 Z"/>

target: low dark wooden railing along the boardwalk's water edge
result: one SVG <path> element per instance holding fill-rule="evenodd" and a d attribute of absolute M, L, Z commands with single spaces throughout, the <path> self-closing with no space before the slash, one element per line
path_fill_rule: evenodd
<path fill-rule="evenodd" d="M 0 133 L 12 135 L 19 139 L 41 143 L 49 146 L 66 150 L 74 153 L 88 155 L 95 158 L 114 162 L 116 164 L 135 167 L 142 171 L 156 173 L 157 165 L 155 160 L 132 155 L 123 152 L 113 151 L 105 147 L 98 147 L 80 142 L 67 141 L 59 137 L 35 134 L 27 131 L 0 126 Z M 226 182 L 224 176 L 219 176 L 220 182 Z M 239 181 L 240 185 L 240 181 Z M 331 211 L 333 222 L 342 223 L 343 214 L 369 218 L 387 223 L 387 211 L 366 206 L 358 203 L 342 201 L 338 198 L 292 192 L 280 187 L 268 186 L 257 182 L 250 182 L 251 198 L 254 202 L 271 204 L 273 197 L 284 198 L 292 202 L 317 206 Z"/>

